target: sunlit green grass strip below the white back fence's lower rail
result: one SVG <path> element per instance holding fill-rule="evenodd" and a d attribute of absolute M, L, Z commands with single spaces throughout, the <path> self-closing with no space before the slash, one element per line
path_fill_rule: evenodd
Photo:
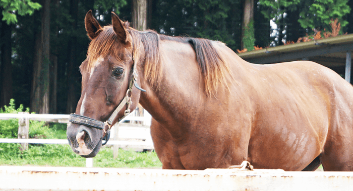
<path fill-rule="evenodd" d="M 75 154 L 69 145 L 29 145 L 19 151 L 20 144 L 0 143 L 0 165 L 84 167 L 86 159 Z M 93 158 L 93 167 L 161 168 L 155 152 L 135 152 L 119 149 L 113 158 L 112 148 L 103 147 Z"/>

